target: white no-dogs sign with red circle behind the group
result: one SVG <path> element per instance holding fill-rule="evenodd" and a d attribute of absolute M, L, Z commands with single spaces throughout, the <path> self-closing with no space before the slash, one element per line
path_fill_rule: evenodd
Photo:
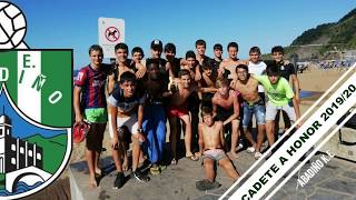
<path fill-rule="evenodd" d="M 103 58 L 113 59 L 113 48 L 125 42 L 125 21 L 116 18 L 99 18 L 99 44 L 103 50 Z"/>

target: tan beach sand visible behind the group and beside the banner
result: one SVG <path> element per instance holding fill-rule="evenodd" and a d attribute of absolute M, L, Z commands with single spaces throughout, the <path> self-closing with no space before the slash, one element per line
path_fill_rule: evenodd
<path fill-rule="evenodd" d="M 304 71 L 303 73 L 298 73 L 300 89 L 303 91 L 313 91 L 315 96 L 307 97 L 301 99 L 300 103 L 300 111 L 304 113 L 312 104 L 315 102 L 320 94 L 326 91 L 343 73 L 345 70 L 317 70 L 316 68 L 309 68 L 308 70 Z M 103 139 L 103 147 L 108 149 L 107 151 L 102 152 L 101 158 L 106 158 L 110 156 L 109 151 L 109 134 L 106 131 L 105 139 Z M 73 144 L 72 153 L 69 163 L 75 163 L 78 161 L 85 160 L 85 143 Z M 69 191 L 69 180 L 68 180 L 68 172 L 67 170 L 63 171 L 61 177 L 52 183 L 50 187 L 44 189 L 43 191 L 36 193 L 27 199 L 70 199 L 70 191 Z"/>

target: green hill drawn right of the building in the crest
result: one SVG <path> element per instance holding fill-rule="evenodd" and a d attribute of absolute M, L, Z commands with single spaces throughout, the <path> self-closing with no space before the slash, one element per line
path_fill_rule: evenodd
<path fill-rule="evenodd" d="M 67 150 L 67 133 L 53 138 L 42 138 L 40 134 L 26 138 L 43 149 L 43 170 L 55 173 L 60 167 Z"/>

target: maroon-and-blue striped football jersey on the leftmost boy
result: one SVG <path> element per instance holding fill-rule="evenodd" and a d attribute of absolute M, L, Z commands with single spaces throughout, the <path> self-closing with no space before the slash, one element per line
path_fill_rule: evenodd
<path fill-rule="evenodd" d="M 83 67 L 78 72 L 76 86 L 81 87 L 81 102 L 85 108 L 106 108 L 105 82 L 107 80 L 108 67 L 102 64 L 98 70 L 90 66 Z"/>

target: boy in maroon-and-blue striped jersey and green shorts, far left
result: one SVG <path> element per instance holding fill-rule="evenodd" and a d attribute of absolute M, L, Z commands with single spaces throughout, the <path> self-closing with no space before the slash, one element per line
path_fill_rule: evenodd
<path fill-rule="evenodd" d="M 86 136 L 86 159 L 89 168 L 89 187 L 96 188 L 96 174 L 100 174 L 98 159 L 102 148 L 103 132 L 108 121 L 105 83 L 110 71 L 102 64 L 102 49 L 93 44 L 89 48 L 90 64 L 78 73 L 73 94 L 76 123 L 86 120 L 90 129 Z"/>

